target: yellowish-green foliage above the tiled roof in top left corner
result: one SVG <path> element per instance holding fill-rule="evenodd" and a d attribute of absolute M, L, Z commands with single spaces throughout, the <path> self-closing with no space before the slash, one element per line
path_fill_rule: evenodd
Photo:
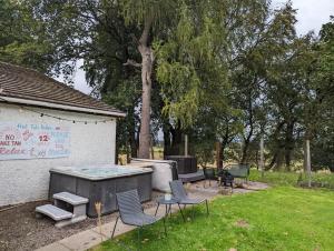
<path fill-rule="evenodd" d="M 0 1 L 0 60 L 51 73 L 52 43 L 32 12 L 32 1 Z"/>

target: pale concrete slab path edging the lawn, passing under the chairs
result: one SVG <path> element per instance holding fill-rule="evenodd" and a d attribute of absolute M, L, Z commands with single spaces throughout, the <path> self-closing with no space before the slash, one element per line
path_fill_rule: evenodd
<path fill-rule="evenodd" d="M 265 189 L 265 188 L 267 188 L 267 187 L 262 185 L 262 189 Z M 188 188 L 188 191 L 190 191 L 189 192 L 190 197 L 206 198 L 208 200 L 213 200 L 218 194 L 215 185 L 207 187 L 206 189 L 204 189 L 203 185 L 198 185 L 197 188 L 194 185 L 193 188 Z M 253 191 L 254 190 L 234 189 L 234 193 L 245 193 L 245 192 L 253 192 Z M 150 215 L 154 215 L 155 211 L 156 211 L 156 207 L 145 210 L 145 212 Z M 178 211 L 178 207 L 173 205 L 171 212 L 177 212 L 177 211 Z M 165 207 L 164 205 L 159 207 L 157 217 L 158 218 L 165 217 Z M 38 249 L 37 251 L 55 251 L 55 250 L 57 250 L 57 251 L 84 251 L 84 250 L 94 248 L 94 247 L 98 245 L 99 243 L 110 239 L 114 225 L 115 225 L 115 220 L 111 222 L 108 222 L 106 224 L 102 224 L 101 234 L 99 233 L 99 228 L 96 227 L 94 229 L 89 229 L 89 230 L 79 232 L 77 234 L 68 237 L 60 241 L 56 241 L 49 245 Z M 115 237 L 122 234 L 125 232 L 131 231 L 134 229 L 135 229 L 135 227 L 125 225 L 121 221 L 118 221 L 117 228 L 115 231 Z"/>

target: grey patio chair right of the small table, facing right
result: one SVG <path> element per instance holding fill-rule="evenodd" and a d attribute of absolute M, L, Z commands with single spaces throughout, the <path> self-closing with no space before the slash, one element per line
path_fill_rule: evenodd
<path fill-rule="evenodd" d="M 194 218 L 194 205 L 195 204 L 200 204 L 200 203 L 204 203 L 206 204 L 206 214 L 208 215 L 209 211 L 208 211 L 208 204 L 207 204 L 207 199 L 193 199 L 193 198 L 189 198 L 185 188 L 184 188 L 184 184 L 180 180 L 174 180 L 174 181 L 169 181 L 169 187 L 170 187 L 170 190 L 171 190 L 171 193 L 174 195 L 174 198 L 176 198 L 178 200 L 178 203 L 179 204 L 184 204 L 184 208 L 187 205 L 187 204 L 191 204 L 193 205 L 193 218 Z"/>

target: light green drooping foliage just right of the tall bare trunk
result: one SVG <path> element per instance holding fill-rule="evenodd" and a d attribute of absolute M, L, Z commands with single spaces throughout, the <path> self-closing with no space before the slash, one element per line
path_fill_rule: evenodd
<path fill-rule="evenodd" d="M 197 4 L 200 11 L 184 2 L 176 29 L 170 30 L 167 41 L 155 43 L 157 80 L 163 84 L 165 101 L 163 112 L 179 120 L 183 127 L 194 124 L 203 106 L 224 100 L 223 90 L 227 88 L 225 63 L 218 54 L 224 47 L 224 28 L 216 19 L 220 9 L 214 9 L 216 2 Z"/>

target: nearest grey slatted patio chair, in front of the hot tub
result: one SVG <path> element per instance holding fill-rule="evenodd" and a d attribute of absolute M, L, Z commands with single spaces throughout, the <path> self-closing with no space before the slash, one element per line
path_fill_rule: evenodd
<path fill-rule="evenodd" d="M 144 212 L 144 209 L 139 201 L 137 190 L 129 190 L 126 192 L 116 193 L 116 201 L 119 210 L 119 217 L 117 217 L 111 239 L 114 238 L 118 219 L 125 224 L 138 227 L 138 242 L 140 241 L 140 229 L 145 225 L 153 224 L 158 221 L 156 217 L 148 215 Z M 164 218 L 164 229 L 166 232 L 166 224 Z"/>

